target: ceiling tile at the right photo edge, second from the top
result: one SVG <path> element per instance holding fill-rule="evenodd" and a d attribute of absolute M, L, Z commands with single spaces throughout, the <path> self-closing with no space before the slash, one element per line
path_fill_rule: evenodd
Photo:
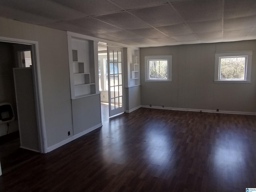
<path fill-rule="evenodd" d="M 239 30 L 256 26 L 256 16 L 224 19 L 224 30 Z"/>

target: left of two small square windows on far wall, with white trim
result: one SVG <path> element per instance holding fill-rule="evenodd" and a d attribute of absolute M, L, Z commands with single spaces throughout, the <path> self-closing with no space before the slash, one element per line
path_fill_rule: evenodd
<path fill-rule="evenodd" d="M 145 81 L 172 81 L 172 55 L 145 56 Z"/>

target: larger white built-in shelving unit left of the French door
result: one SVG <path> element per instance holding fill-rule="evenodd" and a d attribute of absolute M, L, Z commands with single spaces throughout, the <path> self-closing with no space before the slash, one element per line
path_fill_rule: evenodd
<path fill-rule="evenodd" d="M 93 41 L 69 37 L 68 42 L 72 99 L 95 94 Z"/>

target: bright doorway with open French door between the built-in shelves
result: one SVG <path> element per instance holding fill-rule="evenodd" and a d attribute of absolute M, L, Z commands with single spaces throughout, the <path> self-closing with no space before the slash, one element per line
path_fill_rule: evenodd
<path fill-rule="evenodd" d="M 123 48 L 98 43 L 102 122 L 124 112 Z"/>

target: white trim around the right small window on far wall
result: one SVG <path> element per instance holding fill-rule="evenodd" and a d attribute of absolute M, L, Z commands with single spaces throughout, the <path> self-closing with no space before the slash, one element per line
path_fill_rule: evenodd
<path fill-rule="evenodd" d="M 224 80 L 220 79 L 220 57 L 237 57 L 247 56 L 247 62 L 245 64 L 244 80 Z M 239 51 L 239 52 L 222 52 L 215 53 L 215 72 L 214 82 L 216 83 L 250 83 L 251 82 L 251 70 L 252 69 L 252 51 Z"/>

